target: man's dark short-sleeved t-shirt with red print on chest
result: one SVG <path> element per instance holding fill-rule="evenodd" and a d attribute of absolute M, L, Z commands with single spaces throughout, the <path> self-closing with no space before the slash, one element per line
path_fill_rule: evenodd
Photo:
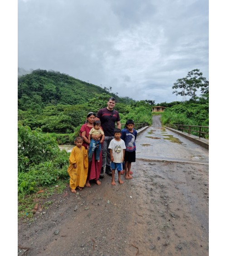
<path fill-rule="evenodd" d="M 120 116 L 118 111 L 108 110 L 105 107 L 99 110 L 96 117 L 98 117 L 101 121 L 101 126 L 103 128 L 104 135 L 114 136 L 115 122 L 120 121 Z"/>

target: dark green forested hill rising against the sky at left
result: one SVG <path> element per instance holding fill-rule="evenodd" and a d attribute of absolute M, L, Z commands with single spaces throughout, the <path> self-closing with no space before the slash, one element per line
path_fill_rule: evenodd
<path fill-rule="evenodd" d="M 26 101 L 34 104 L 77 105 L 88 102 L 94 95 L 108 93 L 118 102 L 123 98 L 110 92 L 108 88 L 93 85 L 72 76 L 55 71 L 34 70 L 31 74 L 18 77 L 18 108 L 27 109 Z"/>

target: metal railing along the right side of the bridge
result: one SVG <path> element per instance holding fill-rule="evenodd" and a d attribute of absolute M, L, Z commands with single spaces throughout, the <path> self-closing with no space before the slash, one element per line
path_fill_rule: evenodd
<path fill-rule="evenodd" d="M 209 139 L 209 126 L 200 126 L 200 125 L 177 125 L 177 124 L 166 124 L 165 126 L 187 132 L 189 135 L 195 135 L 199 138 Z"/>

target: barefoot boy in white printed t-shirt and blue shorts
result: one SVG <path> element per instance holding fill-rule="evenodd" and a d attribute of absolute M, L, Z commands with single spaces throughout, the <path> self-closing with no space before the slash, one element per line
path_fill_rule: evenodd
<path fill-rule="evenodd" d="M 121 139 L 121 129 L 114 129 L 114 139 L 109 143 L 110 153 L 110 168 L 112 169 L 111 185 L 116 185 L 114 182 L 115 170 L 118 171 L 118 182 L 123 184 L 121 180 L 121 171 L 123 170 L 124 151 L 126 149 L 124 141 Z"/>

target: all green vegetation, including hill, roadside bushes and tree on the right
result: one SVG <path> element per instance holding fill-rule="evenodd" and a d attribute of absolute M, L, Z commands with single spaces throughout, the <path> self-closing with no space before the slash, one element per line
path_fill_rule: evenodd
<path fill-rule="evenodd" d="M 109 97 L 117 100 L 121 123 L 152 124 L 152 107 L 167 107 L 162 113 L 163 124 L 178 123 L 208 126 L 208 81 L 199 70 L 192 70 L 178 80 L 173 93 L 183 96 L 183 102 L 155 104 L 154 100 L 136 101 L 111 93 L 111 87 L 101 88 L 59 72 L 34 70 L 18 77 L 18 199 L 19 216 L 32 216 L 39 196 L 60 192 L 69 182 L 69 153 L 58 144 L 72 144 L 84 124 L 88 112 L 97 113 L 106 106 Z M 196 96 L 196 91 L 201 95 Z M 185 100 L 187 96 L 191 98 Z M 58 185 L 57 187 L 55 187 Z M 44 189 L 44 193 L 35 192 Z"/>

